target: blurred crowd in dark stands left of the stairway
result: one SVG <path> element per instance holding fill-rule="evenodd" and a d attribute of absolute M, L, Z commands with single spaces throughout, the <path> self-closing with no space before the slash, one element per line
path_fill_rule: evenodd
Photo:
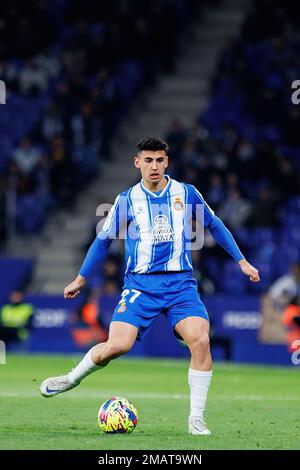
<path fill-rule="evenodd" d="M 38 232 L 47 211 L 75 202 L 136 92 L 172 69 L 196 3 L 10 2 L 0 20 L 9 95 L 0 114 L 0 239 L 7 190 L 17 192 L 23 233 Z"/>

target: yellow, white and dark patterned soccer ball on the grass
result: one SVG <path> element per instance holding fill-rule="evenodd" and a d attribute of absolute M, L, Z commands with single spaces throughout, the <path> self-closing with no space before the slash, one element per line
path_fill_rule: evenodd
<path fill-rule="evenodd" d="M 107 433 L 132 432 L 137 421 L 137 411 L 126 398 L 110 398 L 103 403 L 98 413 L 99 428 Z"/>

